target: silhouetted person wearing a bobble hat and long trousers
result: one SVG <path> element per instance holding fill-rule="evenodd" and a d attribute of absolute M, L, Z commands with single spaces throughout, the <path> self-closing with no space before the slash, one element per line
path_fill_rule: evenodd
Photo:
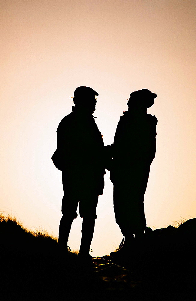
<path fill-rule="evenodd" d="M 110 147 L 114 212 L 124 236 L 124 251 L 125 247 L 131 250 L 132 244 L 138 241 L 133 238 L 142 238 L 146 228 L 143 201 L 150 165 L 155 157 L 157 125 L 156 117 L 147 114 L 146 108 L 154 104 L 156 97 L 147 89 L 130 94 L 128 111 L 120 117 Z"/>

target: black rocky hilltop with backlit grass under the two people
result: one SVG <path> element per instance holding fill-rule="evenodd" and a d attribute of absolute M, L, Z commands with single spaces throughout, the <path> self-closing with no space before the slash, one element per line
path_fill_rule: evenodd
<path fill-rule="evenodd" d="M 194 300 L 196 219 L 147 228 L 128 252 L 85 261 L 57 239 L 0 217 L 1 296 L 6 300 Z"/>

